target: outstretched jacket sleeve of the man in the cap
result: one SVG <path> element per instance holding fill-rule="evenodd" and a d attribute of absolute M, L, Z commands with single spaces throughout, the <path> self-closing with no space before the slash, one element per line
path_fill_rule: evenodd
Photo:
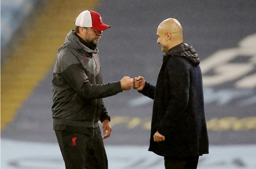
<path fill-rule="evenodd" d="M 81 63 L 71 52 L 66 52 L 59 59 L 61 75 L 67 83 L 85 99 L 97 99 L 122 92 L 121 82 L 90 84 Z"/>

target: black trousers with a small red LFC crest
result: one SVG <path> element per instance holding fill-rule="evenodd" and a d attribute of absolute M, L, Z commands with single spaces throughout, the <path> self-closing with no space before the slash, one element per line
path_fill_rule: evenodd
<path fill-rule="evenodd" d="M 66 169 L 107 169 L 108 162 L 101 134 L 55 131 Z"/>

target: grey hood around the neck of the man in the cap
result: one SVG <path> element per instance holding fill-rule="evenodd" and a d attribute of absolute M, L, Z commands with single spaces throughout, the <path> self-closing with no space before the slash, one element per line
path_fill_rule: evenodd
<path fill-rule="evenodd" d="M 85 46 L 84 44 L 82 44 L 78 37 L 75 35 L 76 31 L 75 30 L 71 30 L 66 37 L 65 43 L 59 48 L 58 52 L 64 48 L 66 45 L 69 45 L 73 48 L 75 48 L 78 51 L 85 51 L 87 53 L 92 53 L 92 54 L 97 54 L 98 53 L 98 49 L 95 48 L 95 50 L 91 50 L 90 48 L 88 48 L 87 46 Z"/>

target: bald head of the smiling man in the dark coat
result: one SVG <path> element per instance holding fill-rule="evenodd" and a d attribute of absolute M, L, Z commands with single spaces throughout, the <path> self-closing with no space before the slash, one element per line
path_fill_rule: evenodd
<path fill-rule="evenodd" d="M 170 48 L 182 43 L 182 26 L 174 18 L 162 21 L 157 28 L 157 43 L 162 46 L 162 51 L 167 52 Z"/>

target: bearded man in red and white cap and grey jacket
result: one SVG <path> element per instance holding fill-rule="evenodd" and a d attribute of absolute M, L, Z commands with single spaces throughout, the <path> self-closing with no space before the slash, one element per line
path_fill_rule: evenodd
<path fill-rule="evenodd" d="M 124 76 L 118 82 L 102 84 L 96 44 L 110 26 L 99 13 L 83 11 L 75 25 L 58 50 L 53 71 L 53 129 L 66 169 L 107 169 L 102 139 L 110 136 L 111 127 L 102 98 L 130 90 L 133 79 Z"/>

